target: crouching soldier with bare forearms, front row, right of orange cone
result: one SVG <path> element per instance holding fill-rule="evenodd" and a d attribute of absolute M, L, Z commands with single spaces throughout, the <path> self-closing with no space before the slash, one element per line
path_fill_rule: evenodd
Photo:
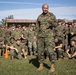
<path fill-rule="evenodd" d="M 16 40 L 16 44 L 14 46 L 10 46 L 10 49 L 13 49 L 16 51 L 16 58 L 17 59 L 22 59 L 27 58 L 27 46 L 23 45 L 20 41 L 20 39 Z"/>

